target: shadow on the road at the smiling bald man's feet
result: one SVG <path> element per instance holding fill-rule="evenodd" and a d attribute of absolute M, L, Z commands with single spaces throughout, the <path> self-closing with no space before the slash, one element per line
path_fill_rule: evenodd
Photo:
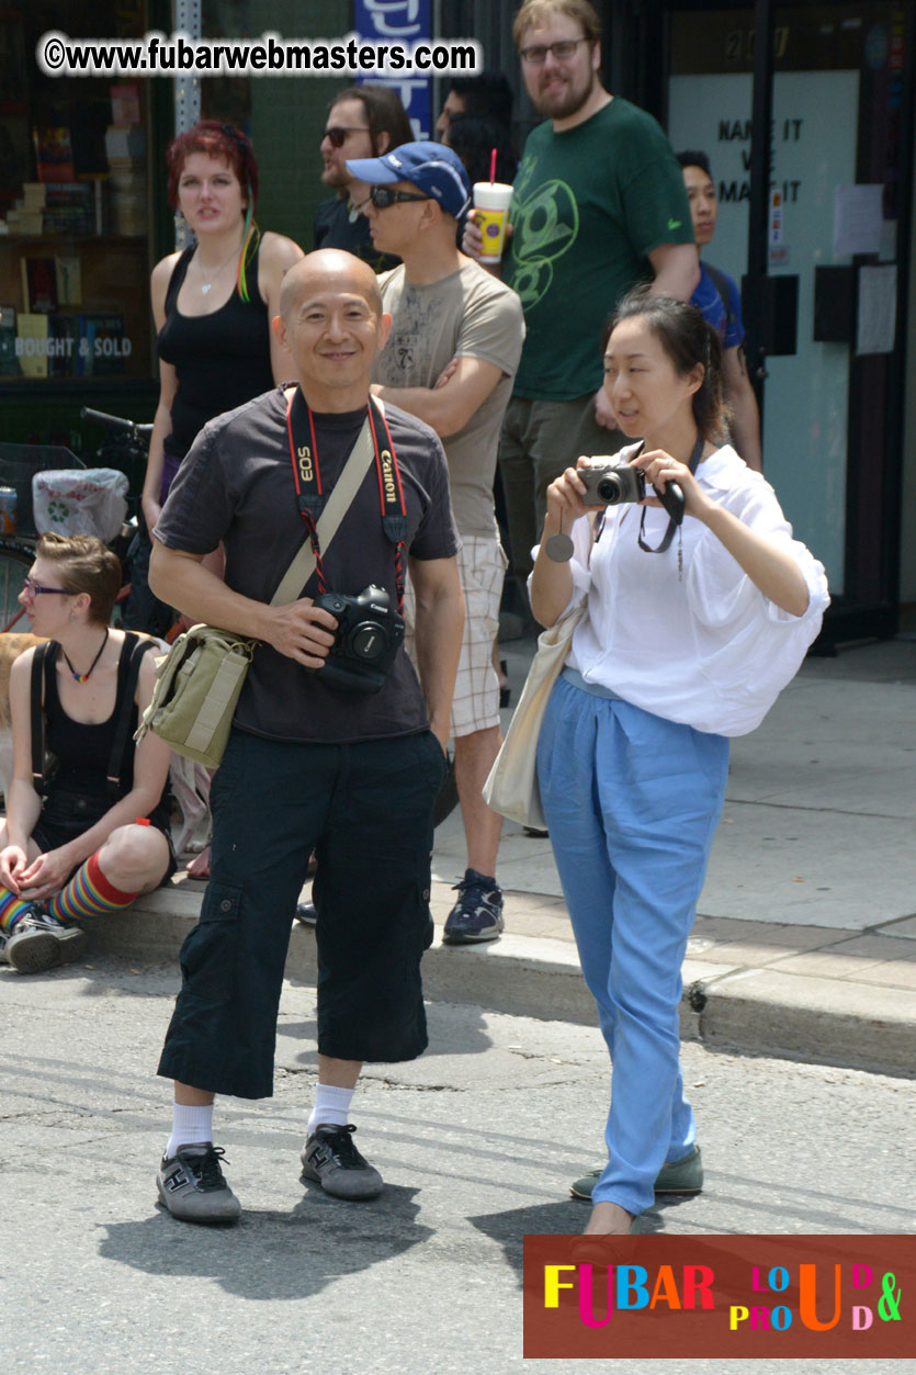
<path fill-rule="evenodd" d="M 345 1203 L 307 1188 L 290 1213 L 250 1209 L 231 1228 L 180 1222 L 157 1206 L 142 1221 L 99 1224 L 99 1255 L 149 1275 L 209 1277 L 248 1299 L 301 1299 L 428 1240 L 415 1194 L 388 1185 L 377 1202 Z"/>

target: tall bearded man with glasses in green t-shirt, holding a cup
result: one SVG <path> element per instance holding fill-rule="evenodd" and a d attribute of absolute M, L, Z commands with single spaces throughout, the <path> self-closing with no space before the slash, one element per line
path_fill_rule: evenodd
<path fill-rule="evenodd" d="M 513 571 L 525 578 L 547 484 L 579 454 L 623 443 L 600 389 L 605 318 L 640 280 L 689 300 L 700 271 L 667 138 L 598 80 L 589 0 L 524 0 L 513 37 L 528 95 L 546 116 L 514 180 L 503 264 L 527 330 L 499 447 Z M 465 252 L 479 256 L 479 245 L 472 228 Z"/>

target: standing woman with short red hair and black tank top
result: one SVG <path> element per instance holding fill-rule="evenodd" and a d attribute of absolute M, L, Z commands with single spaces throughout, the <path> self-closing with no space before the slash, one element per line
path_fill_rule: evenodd
<path fill-rule="evenodd" d="M 169 204 L 195 242 L 153 270 L 160 403 L 143 484 L 149 529 L 198 432 L 289 371 L 271 320 L 283 274 L 303 250 L 254 223 L 257 162 L 231 124 L 201 120 L 166 151 Z"/>

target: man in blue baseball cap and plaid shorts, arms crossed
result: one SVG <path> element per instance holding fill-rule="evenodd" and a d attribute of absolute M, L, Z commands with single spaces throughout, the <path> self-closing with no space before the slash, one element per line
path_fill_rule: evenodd
<path fill-rule="evenodd" d="M 497 883 L 502 818 L 487 807 L 481 789 L 502 742 L 492 645 L 506 558 L 492 481 L 521 356 L 521 302 L 458 249 L 470 183 L 450 147 L 402 143 L 380 158 L 351 160 L 347 170 L 366 183 L 363 213 L 373 243 L 402 258 L 402 267 L 378 278 L 392 329 L 373 368 L 373 392 L 426 421 L 441 439 L 462 540 L 458 571 L 466 616 L 451 733 L 468 868 L 443 939 L 494 940 L 503 928 Z"/>

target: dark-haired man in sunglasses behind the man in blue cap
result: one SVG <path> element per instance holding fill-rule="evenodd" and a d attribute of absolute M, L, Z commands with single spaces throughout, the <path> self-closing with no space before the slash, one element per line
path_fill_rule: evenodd
<path fill-rule="evenodd" d="M 396 257 L 378 253 L 373 246 L 360 204 L 367 188 L 353 187 L 347 158 L 374 158 L 408 143 L 413 136 L 400 96 L 389 87 L 367 81 L 334 96 L 320 143 L 322 182 L 334 195 L 322 201 L 315 212 L 316 249 L 345 249 L 369 263 L 374 272 L 397 267 Z"/>

